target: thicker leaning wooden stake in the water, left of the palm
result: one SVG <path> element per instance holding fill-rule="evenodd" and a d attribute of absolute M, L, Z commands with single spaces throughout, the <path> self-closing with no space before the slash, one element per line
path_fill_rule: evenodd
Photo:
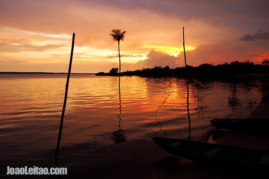
<path fill-rule="evenodd" d="M 68 84 L 69 84 L 69 78 L 70 78 L 71 66 L 72 66 L 74 43 L 75 43 L 75 33 L 73 33 L 73 38 L 72 38 L 72 48 L 71 48 L 69 69 L 68 69 L 67 81 L 66 81 L 66 86 L 65 86 L 64 105 L 63 105 L 63 110 L 62 110 L 61 123 L 60 123 L 60 128 L 59 128 L 59 135 L 58 135 L 58 142 L 57 142 L 57 148 L 56 148 L 55 159 L 54 159 L 55 163 L 58 163 L 59 148 L 60 148 L 60 143 L 61 143 L 63 123 L 64 123 L 64 111 L 65 111 L 65 106 L 66 106 L 66 101 L 67 101 Z"/>

